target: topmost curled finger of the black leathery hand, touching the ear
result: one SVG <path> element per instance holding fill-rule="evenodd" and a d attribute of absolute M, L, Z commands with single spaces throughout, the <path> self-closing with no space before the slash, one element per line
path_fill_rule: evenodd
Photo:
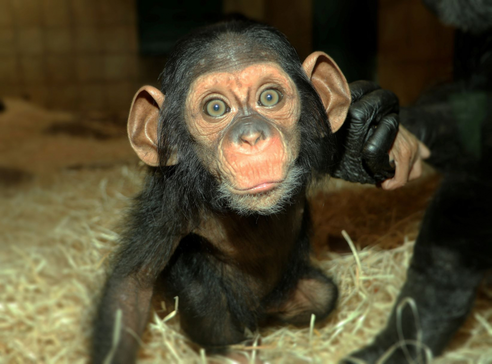
<path fill-rule="evenodd" d="M 367 120 L 379 120 L 390 113 L 397 113 L 399 110 L 398 97 L 390 90 L 378 89 L 372 91 L 361 100 L 350 106 L 348 115 L 352 120 L 366 123 Z"/>

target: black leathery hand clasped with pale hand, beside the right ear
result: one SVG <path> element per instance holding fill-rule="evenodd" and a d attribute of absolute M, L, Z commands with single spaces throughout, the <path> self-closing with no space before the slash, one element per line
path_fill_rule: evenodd
<path fill-rule="evenodd" d="M 403 186 L 421 174 L 427 147 L 399 125 L 398 97 L 370 81 L 350 85 L 352 106 L 337 131 L 338 160 L 332 175 L 347 181 Z"/>

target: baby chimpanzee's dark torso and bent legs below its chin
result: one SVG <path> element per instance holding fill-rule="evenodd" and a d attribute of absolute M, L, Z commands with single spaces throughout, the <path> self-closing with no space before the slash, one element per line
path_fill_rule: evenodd
<path fill-rule="evenodd" d="M 227 252 L 217 249 L 221 238 L 205 238 L 203 227 L 181 242 L 163 272 L 164 292 L 180 297 L 181 326 L 194 342 L 221 350 L 268 316 L 304 324 L 311 313 L 322 319 L 333 309 L 336 287 L 310 263 L 303 205 L 274 217 L 208 221 L 214 235 L 234 242 L 225 242 Z"/>

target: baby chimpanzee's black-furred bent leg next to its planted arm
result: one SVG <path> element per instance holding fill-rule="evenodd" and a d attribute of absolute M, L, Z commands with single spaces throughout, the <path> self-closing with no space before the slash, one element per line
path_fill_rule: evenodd
<path fill-rule="evenodd" d="M 190 235 L 180 243 L 164 272 L 164 289 L 168 296 L 179 296 L 181 327 L 190 339 L 220 352 L 247 339 L 245 328 L 256 330 L 256 313 L 250 309 L 253 296 L 246 295 L 247 287 L 207 257 L 201 239 Z"/>

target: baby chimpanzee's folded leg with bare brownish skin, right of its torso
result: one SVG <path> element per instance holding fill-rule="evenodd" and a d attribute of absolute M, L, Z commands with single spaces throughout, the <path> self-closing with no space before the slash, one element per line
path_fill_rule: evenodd
<path fill-rule="evenodd" d="M 311 314 L 322 320 L 335 308 L 338 289 L 319 269 L 306 266 L 296 285 L 284 300 L 273 304 L 268 312 L 294 325 L 309 323 Z"/>

